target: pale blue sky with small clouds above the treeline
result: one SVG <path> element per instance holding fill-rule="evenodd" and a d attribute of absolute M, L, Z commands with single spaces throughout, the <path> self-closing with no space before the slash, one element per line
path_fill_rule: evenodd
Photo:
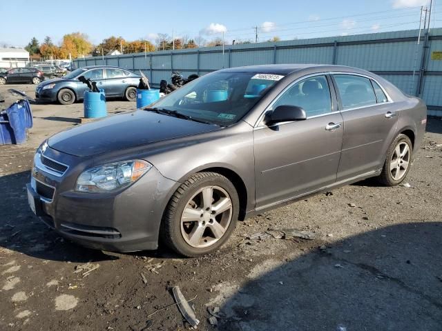
<path fill-rule="evenodd" d="M 37 3 L 38 2 L 38 3 Z M 0 0 L 0 46 L 22 47 L 36 37 L 59 43 L 83 32 L 94 43 L 115 35 L 155 41 L 175 37 L 222 37 L 231 43 L 271 37 L 308 39 L 419 28 L 420 6 L 430 0 Z M 440 8 L 440 9 L 439 9 Z M 433 1 L 432 27 L 442 26 L 442 0 Z"/>

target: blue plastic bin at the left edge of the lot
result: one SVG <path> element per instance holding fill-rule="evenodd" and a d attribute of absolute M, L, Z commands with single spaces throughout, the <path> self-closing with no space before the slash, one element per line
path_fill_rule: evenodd
<path fill-rule="evenodd" d="M 29 119 L 28 112 L 21 106 L 22 102 L 12 103 L 8 109 L 0 113 L 0 144 L 2 145 L 26 142 L 26 128 Z M 32 115 L 30 118 L 32 123 Z"/>

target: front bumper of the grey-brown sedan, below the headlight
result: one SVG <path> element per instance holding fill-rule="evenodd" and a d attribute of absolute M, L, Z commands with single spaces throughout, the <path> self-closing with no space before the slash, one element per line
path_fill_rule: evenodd
<path fill-rule="evenodd" d="M 118 252 L 157 248 L 162 214 L 177 182 L 164 178 L 153 167 L 118 192 L 75 192 L 75 181 L 90 167 L 91 158 L 73 157 L 51 148 L 44 157 L 69 166 L 60 176 L 35 159 L 28 197 L 40 198 L 36 205 L 41 210 L 37 206 L 35 213 L 46 225 L 89 248 Z M 52 199 L 52 191 L 44 190 L 46 187 L 53 188 Z"/>

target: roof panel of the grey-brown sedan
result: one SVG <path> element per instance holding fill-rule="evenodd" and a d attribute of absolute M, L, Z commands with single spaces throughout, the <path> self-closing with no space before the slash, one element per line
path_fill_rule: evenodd
<path fill-rule="evenodd" d="M 260 66 L 244 66 L 236 68 L 222 69 L 224 72 L 260 72 L 263 74 L 291 74 L 299 70 L 318 71 L 345 71 L 367 73 L 367 71 L 347 66 L 334 66 L 330 64 L 264 64 Z"/>

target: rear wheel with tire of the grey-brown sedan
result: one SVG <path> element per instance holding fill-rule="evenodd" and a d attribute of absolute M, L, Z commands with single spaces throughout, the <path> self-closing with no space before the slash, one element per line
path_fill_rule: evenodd
<path fill-rule="evenodd" d="M 388 149 L 379 181 L 386 186 L 402 183 L 410 171 L 412 154 L 412 141 L 405 134 L 399 134 Z"/>

